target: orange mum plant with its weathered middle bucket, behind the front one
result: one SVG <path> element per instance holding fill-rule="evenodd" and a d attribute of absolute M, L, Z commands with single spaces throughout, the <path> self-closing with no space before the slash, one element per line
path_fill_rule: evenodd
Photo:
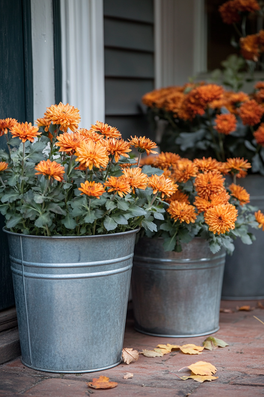
<path fill-rule="evenodd" d="M 262 226 L 264 216 L 251 213 L 243 187 L 225 185 L 229 161 L 161 152 L 152 162 L 177 191 L 165 199 L 165 219 L 154 220 L 157 231 L 142 231 L 135 246 L 135 327 L 167 337 L 213 333 L 219 329 L 226 251 L 234 251 L 237 237 L 254 240 L 248 227 Z"/>

